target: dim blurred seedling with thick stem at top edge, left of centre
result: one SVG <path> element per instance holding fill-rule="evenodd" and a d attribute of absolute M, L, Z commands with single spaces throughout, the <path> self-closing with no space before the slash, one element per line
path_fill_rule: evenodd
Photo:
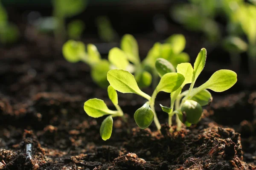
<path fill-rule="evenodd" d="M 53 16 L 57 22 L 55 36 L 59 39 L 65 37 L 65 18 L 81 13 L 86 6 L 87 0 L 53 0 Z"/>

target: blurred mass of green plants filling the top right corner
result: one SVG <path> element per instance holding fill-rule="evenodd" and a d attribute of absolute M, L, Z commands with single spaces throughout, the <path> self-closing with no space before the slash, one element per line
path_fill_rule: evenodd
<path fill-rule="evenodd" d="M 251 3 L 244 0 L 189 0 L 189 3 L 174 7 L 171 13 L 186 28 L 204 32 L 213 45 L 222 45 L 230 53 L 235 69 L 241 63 L 239 54 L 247 51 L 252 74 L 256 71 L 255 0 Z M 215 21 L 218 16 L 227 20 L 227 36 L 224 38 L 220 31 L 223 26 Z M 247 39 L 243 38 L 244 35 Z"/>

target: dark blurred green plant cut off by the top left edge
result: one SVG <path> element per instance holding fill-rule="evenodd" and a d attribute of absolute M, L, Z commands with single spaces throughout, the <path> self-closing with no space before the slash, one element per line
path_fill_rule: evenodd
<path fill-rule="evenodd" d="M 14 23 L 8 21 L 8 14 L 0 1 L 0 42 L 11 44 L 16 42 L 19 36 L 19 29 Z"/>

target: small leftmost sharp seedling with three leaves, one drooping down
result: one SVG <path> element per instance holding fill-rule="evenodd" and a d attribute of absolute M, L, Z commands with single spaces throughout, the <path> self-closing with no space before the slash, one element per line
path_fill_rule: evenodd
<path fill-rule="evenodd" d="M 103 140 L 107 140 L 111 137 L 113 117 L 122 117 L 124 115 L 122 109 L 118 105 L 116 90 L 111 85 L 108 86 L 108 97 L 116 107 L 116 111 L 108 109 L 108 106 L 101 99 L 89 99 L 84 103 L 84 111 L 88 116 L 98 118 L 109 115 L 103 120 L 102 125 L 100 126 L 100 136 Z"/>

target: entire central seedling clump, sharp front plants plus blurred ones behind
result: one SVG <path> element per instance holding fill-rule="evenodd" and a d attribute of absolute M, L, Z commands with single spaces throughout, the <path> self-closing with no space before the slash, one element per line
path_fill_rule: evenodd
<path fill-rule="evenodd" d="M 95 45 L 88 44 L 86 52 L 82 42 L 69 40 L 64 44 L 63 54 L 68 61 L 86 62 L 92 68 L 91 75 L 94 81 L 101 87 L 108 87 L 109 99 L 116 110 L 110 110 L 103 100 L 97 98 L 89 99 L 84 103 L 84 111 L 87 115 L 93 118 L 107 116 L 100 127 L 103 140 L 111 137 L 113 117 L 124 119 L 124 113 L 118 105 L 117 91 L 144 97 L 146 102 L 134 113 L 134 120 L 142 129 L 147 128 L 154 121 L 158 130 L 161 125 L 154 109 L 155 99 L 160 91 L 169 93 L 170 107 L 160 106 L 168 113 L 170 126 L 172 116 L 176 114 L 177 130 L 180 130 L 182 123 L 189 127 L 200 120 L 202 106 L 212 101 L 212 95 L 207 89 L 222 92 L 236 83 L 237 75 L 234 71 L 219 70 L 212 74 L 207 82 L 194 88 L 195 81 L 204 68 L 207 51 L 205 48 L 201 49 L 192 67 L 186 62 L 189 57 L 181 52 L 185 42 L 182 35 L 173 35 L 164 44 L 156 43 L 143 62 L 140 61 L 135 38 L 128 34 L 122 38 L 121 49 L 115 47 L 109 51 L 108 60 L 101 58 Z M 160 81 L 154 78 L 152 85 L 154 92 L 150 96 L 141 88 L 151 85 L 151 74 L 153 77 L 154 75 L 160 77 Z M 190 84 L 189 90 L 182 91 L 186 84 Z"/>

